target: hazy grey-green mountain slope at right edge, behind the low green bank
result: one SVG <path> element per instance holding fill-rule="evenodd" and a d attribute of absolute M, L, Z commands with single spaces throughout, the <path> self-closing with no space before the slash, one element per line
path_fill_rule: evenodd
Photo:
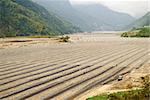
<path fill-rule="evenodd" d="M 126 29 L 141 28 L 144 26 L 150 26 L 150 12 L 128 25 Z"/>

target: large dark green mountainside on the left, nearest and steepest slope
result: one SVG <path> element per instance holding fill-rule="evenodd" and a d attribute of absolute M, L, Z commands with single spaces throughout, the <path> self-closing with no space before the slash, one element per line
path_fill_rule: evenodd
<path fill-rule="evenodd" d="M 31 0 L 0 0 L 0 35 L 57 35 L 80 29 Z"/>

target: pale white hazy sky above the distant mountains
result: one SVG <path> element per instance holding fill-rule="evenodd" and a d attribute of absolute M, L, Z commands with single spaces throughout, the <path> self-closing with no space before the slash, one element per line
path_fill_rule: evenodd
<path fill-rule="evenodd" d="M 134 17 L 143 16 L 150 11 L 149 0 L 70 0 L 72 4 L 101 3 L 118 12 L 125 12 Z"/>

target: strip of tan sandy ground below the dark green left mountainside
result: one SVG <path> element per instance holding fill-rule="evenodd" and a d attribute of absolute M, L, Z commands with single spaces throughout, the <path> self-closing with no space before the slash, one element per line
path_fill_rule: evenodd
<path fill-rule="evenodd" d="M 0 49 L 55 43 L 59 43 L 57 38 L 0 38 Z"/>

